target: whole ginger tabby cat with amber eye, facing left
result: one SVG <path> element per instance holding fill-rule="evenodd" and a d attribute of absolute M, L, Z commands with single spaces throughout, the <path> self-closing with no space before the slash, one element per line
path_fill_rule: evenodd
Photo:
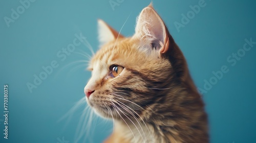
<path fill-rule="evenodd" d="M 209 142 L 204 103 L 186 60 L 152 4 L 124 37 L 98 20 L 100 49 L 84 93 L 91 108 L 114 120 L 104 142 Z"/>

